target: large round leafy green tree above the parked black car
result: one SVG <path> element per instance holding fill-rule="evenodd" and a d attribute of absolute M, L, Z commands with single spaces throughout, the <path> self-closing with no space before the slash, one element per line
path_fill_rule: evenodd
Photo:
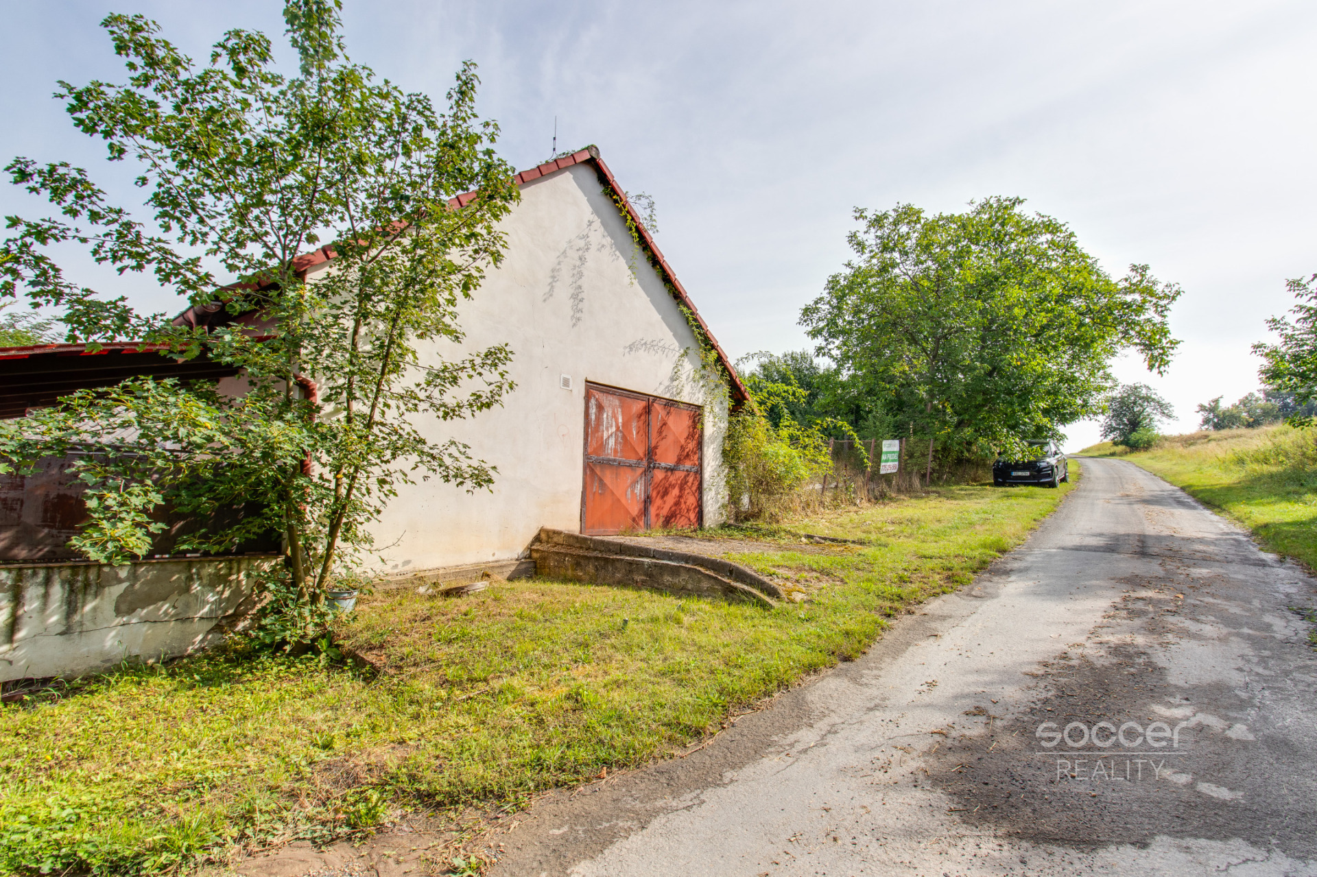
<path fill-rule="evenodd" d="M 1018 198 L 964 213 L 856 211 L 855 259 L 801 313 L 817 352 L 874 407 L 964 456 L 1019 450 L 1101 411 L 1109 362 L 1162 373 L 1180 290 L 1147 266 L 1112 279 L 1063 223 Z"/>

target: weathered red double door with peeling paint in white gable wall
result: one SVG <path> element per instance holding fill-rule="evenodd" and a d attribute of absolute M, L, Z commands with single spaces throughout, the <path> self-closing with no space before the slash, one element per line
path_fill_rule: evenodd
<path fill-rule="evenodd" d="M 699 527 L 701 411 L 587 383 L 581 532 Z"/>

